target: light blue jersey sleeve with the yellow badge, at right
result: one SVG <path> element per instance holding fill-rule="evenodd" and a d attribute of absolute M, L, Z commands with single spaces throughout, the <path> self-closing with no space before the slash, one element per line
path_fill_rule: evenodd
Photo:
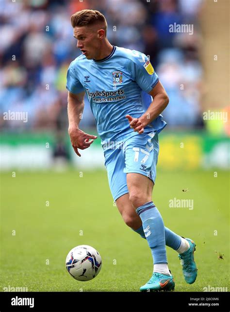
<path fill-rule="evenodd" d="M 143 53 L 138 53 L 139 56 L 132 62 L 133 78 L 138 86 L 148 93 L 156 86 L 159 78 L 148 57 Z"/>

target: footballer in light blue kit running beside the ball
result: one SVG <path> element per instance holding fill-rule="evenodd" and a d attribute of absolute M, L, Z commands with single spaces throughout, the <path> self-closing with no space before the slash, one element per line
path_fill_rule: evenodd
<path fill-rule="evenodd" d="M 140 291 L 171 291 L 165 245 L 179 254 L 185 281 L 195 282 L 196 244 L 164 226 L 152 201 L 159 153 L 158 135 L 166 122 L 162 111 L 169 99 L 148 57 L 113 46 L 107 39 L 105 17 L 95 10 L 71 16 L 77 48 L 82 54 L 67 71 L 68 133 L 74 151 L 89 148 L 96 136 L 79 128 L 86 94 L 95 117 L 105 157 L 111 193 L 124 222 L 146 239 L 153 274 Z M 148 109 L 143 106 L 143 92 Z"/>

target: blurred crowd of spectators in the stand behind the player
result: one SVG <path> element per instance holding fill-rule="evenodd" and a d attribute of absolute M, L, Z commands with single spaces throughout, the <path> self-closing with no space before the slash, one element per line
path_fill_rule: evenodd
<path fill-rule="evenodd" d="M 70 16 L 96 9 L 108 22 L 115 46 L 149 56 L 170 99 L 163 116 L 168 127 L 202 127 L 200 101 L 203 0 L 1 0 L 0 128 L 7 131 L 67 128 L 66 71 L 81 52 Z M 169 25 L 191 24 L 193 34 L 170 32 Z M 28 112 L 28 122 L 4 120 L 8 111 Z M 82 127 L 94 127 L 85 101 Z"/>

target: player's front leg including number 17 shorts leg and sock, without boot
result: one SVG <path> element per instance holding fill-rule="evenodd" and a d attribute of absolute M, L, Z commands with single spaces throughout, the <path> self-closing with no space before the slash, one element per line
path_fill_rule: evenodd
<path fill-rule="evenodd" d="M 126 141 L 124 172 L 127 173 L 129 199 L 142 220 L 154 265 L 162 264 L 162 272 L 170 275 L 167 267 L 164 222 L 152 202 L 159 152 L 158 140 L 153 141 L 154 136 L 155 132 L 143 133 Z"/>

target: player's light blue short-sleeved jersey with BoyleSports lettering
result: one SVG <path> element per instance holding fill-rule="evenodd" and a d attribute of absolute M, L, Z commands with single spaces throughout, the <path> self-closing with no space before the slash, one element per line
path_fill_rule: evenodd
<path fill-rule="evenodd" d="M 71 62 L 66 88 L 74 94 L 85 91 L 101 144 L 109 146 L 110 141 L 138 135 L 130 128 L 125 116 L 139 118 L 143 115 L 151 96 L 142 93 L 150 92 L 158 81 L 145 54 L 114 47 L 102 60 L 88 60 L 82 54 Z M 149 103 L 143 103 L 143 99 Z M 145 133 L 154 130 L 159 133 L 165 125 L 160 115 L 145 128 Z"/>

